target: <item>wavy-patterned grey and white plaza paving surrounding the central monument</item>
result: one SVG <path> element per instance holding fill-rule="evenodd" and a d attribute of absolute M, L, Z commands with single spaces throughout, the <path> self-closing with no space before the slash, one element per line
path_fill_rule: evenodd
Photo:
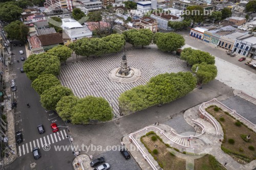
<path fill-rule="evenodd" d="M 89 60 L 82 58 L 78 62 L 63 65 L 58 78 L 63 86 L 71 88 L 79 98 L 87 95 L 103 97 L 118 117 L 118 97 L 122 92 L 144 85 L 150 78 L 165 72 L 190 71 L 186 62 L 179 59 L 179 56 L 163 53 L 155 47 L 131 49 L 125 53 L 128 66 L 141 71 L 140 78 L 133 83 L 118 83 L 109 79 L 110 71 L 120 67 L 123 52 Z"/>

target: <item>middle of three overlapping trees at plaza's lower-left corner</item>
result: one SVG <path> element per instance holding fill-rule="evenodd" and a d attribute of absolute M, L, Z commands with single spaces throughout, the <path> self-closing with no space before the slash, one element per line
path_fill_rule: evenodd
<path fill-rule="evenodd" d="M 63 121 L 67 121 L 71 119 L 73 114 L 73 107 L 76 106 L 78 102 L 77 96 L 74 95 L 67 95 L 63 96 L 56 105 L 56 111 L 59 117 Z"/>

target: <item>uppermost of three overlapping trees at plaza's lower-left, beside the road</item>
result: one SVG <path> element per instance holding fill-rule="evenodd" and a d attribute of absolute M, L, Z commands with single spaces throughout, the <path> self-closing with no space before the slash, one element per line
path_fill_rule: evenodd
<path fill-rule="evenodd" d="M 72 90 L 61 85 L 53 86 L 41 94 L 42 107 L 47 110 L 55 110 L 57 103 L 63 96 L 74 95 Z"/>

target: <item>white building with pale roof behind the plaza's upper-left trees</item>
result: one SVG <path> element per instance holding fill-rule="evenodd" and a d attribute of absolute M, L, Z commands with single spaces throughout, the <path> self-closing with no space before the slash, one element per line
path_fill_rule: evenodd
<path fill-rule="evenodd" d="M 75 19 L 71 18 L 62 19 L 61 28 L 69 36 L 72 42 L 85 37 L 91 38 L 93 35 L 86 25 L 82 26 Z"/>

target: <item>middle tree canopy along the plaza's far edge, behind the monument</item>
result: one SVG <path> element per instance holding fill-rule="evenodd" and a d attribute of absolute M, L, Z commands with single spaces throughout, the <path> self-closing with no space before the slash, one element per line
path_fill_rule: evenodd
<path fill-rule="evenodd" d="M 129 30 L 123 32 L 126 42 L 131 43 L 133 46 L 150 45 L 153 38 L 153 33 L 149 29 Z"/>

